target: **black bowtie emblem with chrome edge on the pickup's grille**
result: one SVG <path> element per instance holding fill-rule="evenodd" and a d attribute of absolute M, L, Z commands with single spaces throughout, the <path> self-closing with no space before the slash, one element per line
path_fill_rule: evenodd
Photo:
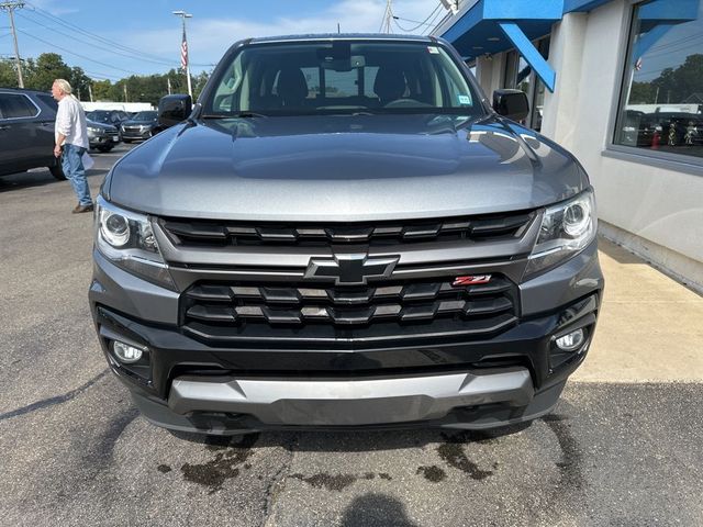
<path fill-rule="evenodd" d="M 366 254 L 311 258 L 305 278 L 334 281 L 336 285 L 366 285 L 369 278 L 389 278 L 399 259 L 400 256 L 373 258 Z"/>

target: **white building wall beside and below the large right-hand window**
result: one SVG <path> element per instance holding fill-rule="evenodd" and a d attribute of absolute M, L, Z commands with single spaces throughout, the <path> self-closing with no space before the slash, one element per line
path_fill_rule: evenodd
<path fill-rule="evenodd" d="M 629 16 L 629 2 L 615 0 L 556 24 L 549 63 L 557 88 L 545 98 L 542 132 L 583 164 L 599 216 L 615 227 L 614 237 L 634 249 L 647 247 L 649 259 L 703 288 L 703 176 L 658 168 L 644 156 L 634 161 L 603 154 L 613 133 Z M 633 243 L 631 235 L 640 239 Z"/>

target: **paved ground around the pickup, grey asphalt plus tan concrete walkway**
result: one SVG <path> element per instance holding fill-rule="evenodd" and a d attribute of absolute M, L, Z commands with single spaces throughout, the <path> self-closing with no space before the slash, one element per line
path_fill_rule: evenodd
<path fill-rule="evenodd" d="M 127 148 L 94 155 L 93 195 Z M 0 525 L 703 525 L 703 299 L 612 244 L 591 357 L 531 426 L 203 441 L 108 372 L 74 206 L 45 170 L 0 178 Z"/>

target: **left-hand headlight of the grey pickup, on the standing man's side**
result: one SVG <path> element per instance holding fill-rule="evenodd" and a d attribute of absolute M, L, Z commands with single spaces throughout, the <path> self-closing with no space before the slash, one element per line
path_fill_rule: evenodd
<path fill-rule="evenodd" d="M 125 211 L 98 197 L 96 246 L 105 258 L 125 271 L 176 290 L 146 215 Z"/>

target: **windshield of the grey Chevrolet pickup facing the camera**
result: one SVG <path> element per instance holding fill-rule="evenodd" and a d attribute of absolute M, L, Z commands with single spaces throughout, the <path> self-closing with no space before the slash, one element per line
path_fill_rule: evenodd
<path fill-rule="evenodd" d="M 203 101 L 207 116 L 483 114 L 454 58 L 427 42 L 272 43 L 242 48 Z"/>

